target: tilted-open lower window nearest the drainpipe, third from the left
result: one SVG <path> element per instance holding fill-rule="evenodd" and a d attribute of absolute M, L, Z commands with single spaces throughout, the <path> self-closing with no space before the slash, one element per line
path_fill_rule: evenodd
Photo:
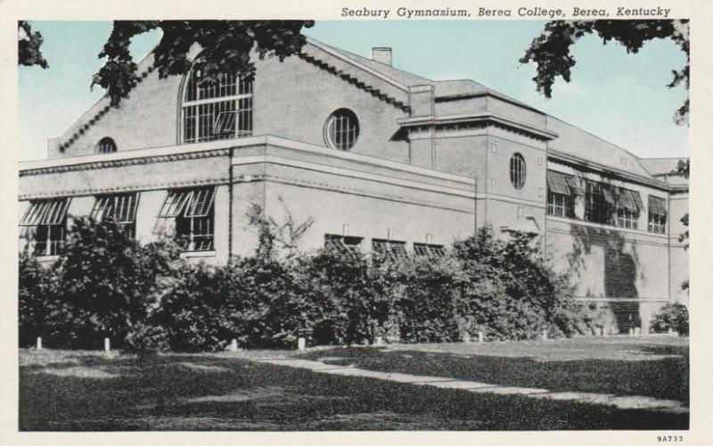
<path fill-rule="evenodd" d="M 214 249 L 215 194 L 215 186 L 168 191 L 159 219 L 175 219 L 176 242 L 185 251 Z"/>

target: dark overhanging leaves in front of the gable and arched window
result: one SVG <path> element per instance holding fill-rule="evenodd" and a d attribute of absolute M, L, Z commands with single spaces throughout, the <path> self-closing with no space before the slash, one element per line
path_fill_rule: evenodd
<path fill-rule="evenodd" d="M 136 73 L 136 63 L 129 53 L 131 39 L 152 29 L 162 32 L 159 45 L 152 52 L 152 67 L 159 70 L 160 78 L 185 74 L 194 62 L 204 73 L 202 82 L 210 84 L 217 81 L 220 73 L 252 78 L 253 50 L 259 58 L 273 54 L 281 62 L 298 54 L 307 42 L 301 29 L 313 25 L 314 21 L 114 21 L 111 36 L 99 53 L 99 58 L 106 58 L 106 62 L 94 74 L 92 87 L 106 89 L 111 106 L 119 106 L 121 99 L 136 86 L 140 74 Z M 202 51 L 191 61 L 189 52 L 194 44 Z"/>

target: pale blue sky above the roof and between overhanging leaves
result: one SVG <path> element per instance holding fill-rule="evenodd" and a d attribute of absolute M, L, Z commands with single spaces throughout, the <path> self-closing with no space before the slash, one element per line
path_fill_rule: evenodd
<path fill-rule="evenodd" d="M 518 60 L 541 21 L 324 21 L 307 35 L 328 45 L 369 56 L 373 46 L 391 46 L 397 68 L 434 80 L 471 78 L 552 114 L 642 157 L 688 156 L 688 128 L 672 117 L 683 87 L 668 88 L 671 70 L 684 54 L 668 40 L 652 41 L 639 54 L 618 44 L 585 37 L 573 46 L 572 82 L 557 79 L 553 98 L 535 91 L 535 67 Z M 34 21 L 42 32 L 48 70 L 20 67 L 20 160 L 46 156 L 46 140 L 60 136 L 102 95 L 89 90 L 111 22 Z M 143 56 L 158 32 L 135 39 Z"/>

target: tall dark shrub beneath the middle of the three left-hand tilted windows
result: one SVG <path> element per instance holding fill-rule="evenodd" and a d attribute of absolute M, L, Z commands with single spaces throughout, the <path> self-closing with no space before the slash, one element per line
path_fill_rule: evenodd
<path fill-rule="evenodd" d="M 53 271 L 53 346 L 98 348 L 109 337 L 121 348 L 135 339 L 177 259 L 170 242 L 142 246 L 111 220 L 76 219 Z"/>

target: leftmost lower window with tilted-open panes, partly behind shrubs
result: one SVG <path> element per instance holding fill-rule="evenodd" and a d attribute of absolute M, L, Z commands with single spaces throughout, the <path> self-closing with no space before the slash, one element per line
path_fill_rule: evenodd
<path fill-rule="evenodd" d="M 67 209 L 70 198 L 55 198 L 31 202 L 20 220 L 20 236 L 33 242 L 33 252 L 38 256 L 57 255 L 64 244 L 67 227 Z"/>

